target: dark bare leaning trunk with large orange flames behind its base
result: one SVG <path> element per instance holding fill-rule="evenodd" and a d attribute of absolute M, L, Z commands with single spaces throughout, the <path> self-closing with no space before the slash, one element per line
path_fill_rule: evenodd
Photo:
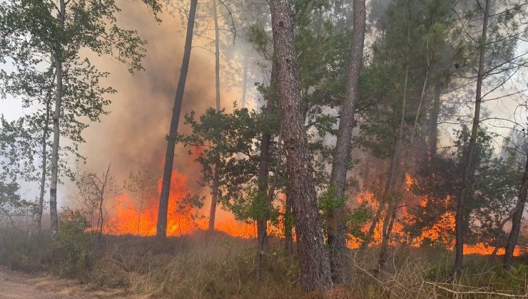
<path fill-rule="evenodd" d="M 189 18 L 187 22 L 185 50 L 183 51 L 183 61 L 181 63 L 180 78 L 178 79 L 178 88 L 176 88 L 171 127 L 169 128 L 167 137 L 167 151 L 165 153 L 165 167 L 163 168 L 163 181 L 161 183 L 160 205 L 158 209 L 158 223 L 156 225 L 156 236 L 161 238 L 166 238 L 167 234 L 168 195 L 171 191 L 174 149 L 176 147 L 176 134 L 178 133 L 178 122 L 180 121 L 183 91 L 185 90 L 189 61 L 191 59 L 191 45 L 193 43 L 193 28 L 197 5 L 198 0 L 191 0 L 191 7 L 189 9 Z"/>

